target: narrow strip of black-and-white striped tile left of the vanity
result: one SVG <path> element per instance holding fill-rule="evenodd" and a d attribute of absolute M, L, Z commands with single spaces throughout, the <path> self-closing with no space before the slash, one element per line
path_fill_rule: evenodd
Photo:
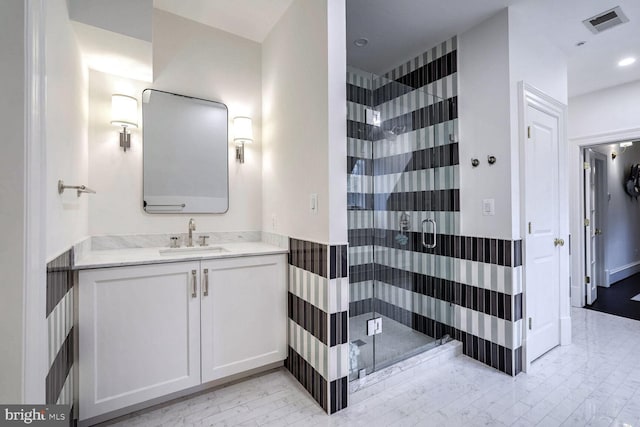
<path fill-rule="evenodd" d="M 73 249 L 47 264 L 49 372 L 46 403 L 73 405 L 74 301 Z"/>

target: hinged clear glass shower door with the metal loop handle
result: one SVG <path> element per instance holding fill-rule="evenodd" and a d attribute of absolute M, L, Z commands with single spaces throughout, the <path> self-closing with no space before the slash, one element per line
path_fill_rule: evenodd
<path fill-rule="evenodd" d="M 373 149 L 374 370 L 439 345 L 452 323 L 453 262 L 437 255 L 453 234 L 457 164 L 447 101 L 374 80 L 380 126 Z M 451 135 L 451 138 L 450 138 Z"/>

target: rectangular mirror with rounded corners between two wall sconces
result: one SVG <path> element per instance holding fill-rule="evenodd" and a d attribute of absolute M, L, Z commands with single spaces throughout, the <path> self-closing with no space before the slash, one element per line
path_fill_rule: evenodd
<path fill-rule="evenodd" d="M 227 106 L 145 89 L 142 120 L 144 210 L 225 213 L 229 208 Z"/>

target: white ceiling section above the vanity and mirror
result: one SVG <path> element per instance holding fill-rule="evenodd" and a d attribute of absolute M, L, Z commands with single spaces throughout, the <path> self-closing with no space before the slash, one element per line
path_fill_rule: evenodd
<path fill-rule="evenodd" d="M 293 0 L 153 0 L 153 7 L 262 43 Z"/>

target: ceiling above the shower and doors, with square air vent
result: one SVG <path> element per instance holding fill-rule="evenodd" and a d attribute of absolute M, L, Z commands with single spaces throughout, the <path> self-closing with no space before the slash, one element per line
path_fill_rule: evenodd
<path fill-rule="evenodd" d="M 639 0 L 346 0 L 347 62 L 383 74 L 482 22 L 506 6 L 515 7 L 541 36 L 568 57 L 569 95 L 575 96 L 640 79 Z M 584 19 L 621 6 L 629 22 L 594 35 Z M 353 41 L 369 39 L 365 48 Z M 578 41 L 586 41 L 576 47 Z M 638 59 L 620 68 L 625 56 Z"/>

